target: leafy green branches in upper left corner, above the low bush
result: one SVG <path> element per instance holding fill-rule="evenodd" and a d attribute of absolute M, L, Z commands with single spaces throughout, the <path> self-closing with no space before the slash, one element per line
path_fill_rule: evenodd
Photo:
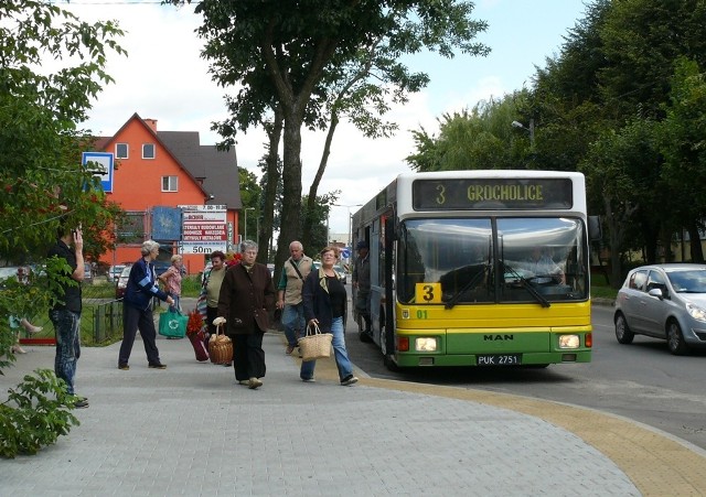
<path fill-rule="evenodd" d="M 83 224 L 86 252 L 99 253 L 119 209 L 78 166 L 90 145 L 76 123 L 113 80 L 106 54 L 124 53 L 122 32 L 35 0 L 0 3 L 0 257 L 38 259 L 62 222 Z M 57 68 L 36 72 L 47 58 Z"/>

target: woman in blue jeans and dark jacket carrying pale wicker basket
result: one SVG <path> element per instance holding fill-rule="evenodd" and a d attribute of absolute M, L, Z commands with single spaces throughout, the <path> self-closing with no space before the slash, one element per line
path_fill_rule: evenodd
<path fill-rule="evenodd" d="M 304 280 L 301 296 L 308 327 L 318 325 L 322 333 L 333 334 L 335 365 L 339 368 L 341 385 L 345 387 L 355 383 L 357 378 L 353 376 L 353 365 L 345 349 L 343 316 L 347 311 L 347 294 L 333 269 L 333 264 L 338 260 L 339 251 L 335 247 L 327 247 L 321 250 L 321 267 L 318 271 L 309 273 Z M 299 377 L 302 381 L 314 381 L 315 366 L 315 360 L 301 363 Z"/>

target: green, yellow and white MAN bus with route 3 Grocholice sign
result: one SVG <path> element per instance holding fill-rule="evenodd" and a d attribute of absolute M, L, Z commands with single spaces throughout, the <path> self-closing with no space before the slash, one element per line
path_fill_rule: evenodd
<path fill-rule="evenodd" d="M 353 288 L 354 321 L 389 369 L 591 360 L 599 223 L 587 216 L 582 174 L 405 173 L 351 229 L 371 271 L 366 310 Z"/>

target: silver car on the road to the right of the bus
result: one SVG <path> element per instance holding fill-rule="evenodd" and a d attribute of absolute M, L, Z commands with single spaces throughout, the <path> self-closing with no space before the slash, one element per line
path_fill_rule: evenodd
<path fill-rule="evenodd" d="M 670 352 L 706 347 L 706 264 L 641 266 L 628 273 L 616 299 L 616 338 L 666 339 Z"/>

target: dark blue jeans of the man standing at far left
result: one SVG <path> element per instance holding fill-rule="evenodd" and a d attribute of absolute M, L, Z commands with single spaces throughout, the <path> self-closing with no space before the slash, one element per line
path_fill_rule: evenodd
<path fill-rule="evenodd" d="M 50 311 L 56 335 L 54 374 L 66 381 L 66 392 L 73 396 L 76 363 L 81 357 L 81 314 L 58 309 Z"/>

